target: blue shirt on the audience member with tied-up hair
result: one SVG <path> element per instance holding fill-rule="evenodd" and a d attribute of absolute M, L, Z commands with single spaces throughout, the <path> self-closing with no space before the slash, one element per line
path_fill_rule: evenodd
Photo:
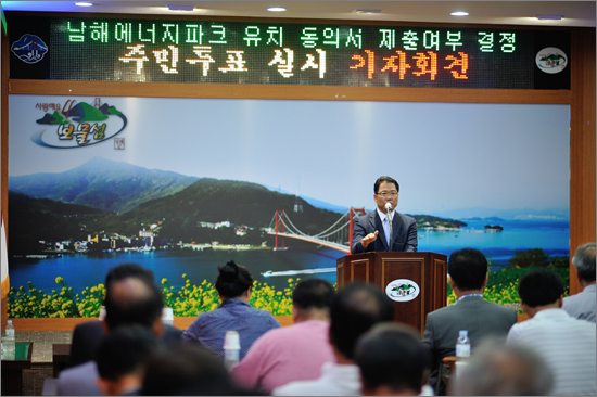
<path fill-rule="evenodd" d="M 239 359 L 259 336 L 275 328 L 278 320 L 267 310 L 255 309 L 240 299 L 226 299 L 213 311 L 199 315 L 198 319 L 182 333 L 182 341 L 199 341 L 224 360 L 224 336 L 226 331 L 237 331 L 241 342 Z"/>

